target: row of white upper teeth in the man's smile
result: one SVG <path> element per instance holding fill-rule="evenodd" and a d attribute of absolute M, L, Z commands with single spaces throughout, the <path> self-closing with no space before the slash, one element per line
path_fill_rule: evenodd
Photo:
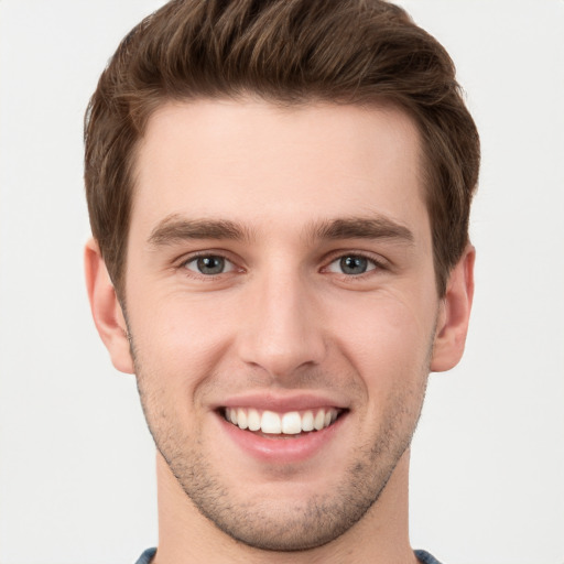
<path fill-rule="evenodd" d="M 227 408 L 225 419 L 239 429 L 249 431 L 262 431 L 269 435 L 297 435 L 302 432 L 322 431 L 337 420 L 336 409 L 318 410 L 314 414 L 312 410 L 300 414 L 297 411 L 288 413 L 275 413 L 263 411 L 262 414 L 256 409 Z"/>

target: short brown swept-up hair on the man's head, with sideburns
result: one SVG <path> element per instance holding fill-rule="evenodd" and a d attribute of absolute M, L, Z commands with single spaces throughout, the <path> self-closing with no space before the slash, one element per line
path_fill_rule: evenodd
<path fill-rule="evenodd" d="M 167 100 L 391 102 L 415 120 L 440 295 L 468 242 L 479 138 L 444 47 L 382 0 L 173 0 L 137 25 L 85 118 L 93 235 L 123 290 L 134 153 Z"/>

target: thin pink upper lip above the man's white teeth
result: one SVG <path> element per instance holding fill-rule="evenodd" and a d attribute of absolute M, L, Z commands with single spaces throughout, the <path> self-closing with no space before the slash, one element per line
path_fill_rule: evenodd
<path fill-rule="evenodd" d="M 321 408 L 348 409 L 348 404 L 329 395 L 318 392 L 247 392 L 227 398 L 215 405 L 220 408 L 253 408 L 257 410 L 270 410 L 279 413 L 289 411 L 304 411 Z"/>

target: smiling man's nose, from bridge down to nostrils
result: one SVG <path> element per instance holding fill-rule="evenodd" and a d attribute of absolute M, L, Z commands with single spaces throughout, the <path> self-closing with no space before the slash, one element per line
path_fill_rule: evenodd
<path fill-rule="evenodd" d="M 269 275 L 248 289 L 239 357 L 274 379 L 300 376 L 322 362 L 326 345 L 318 300 L 299 276 Z"/>

